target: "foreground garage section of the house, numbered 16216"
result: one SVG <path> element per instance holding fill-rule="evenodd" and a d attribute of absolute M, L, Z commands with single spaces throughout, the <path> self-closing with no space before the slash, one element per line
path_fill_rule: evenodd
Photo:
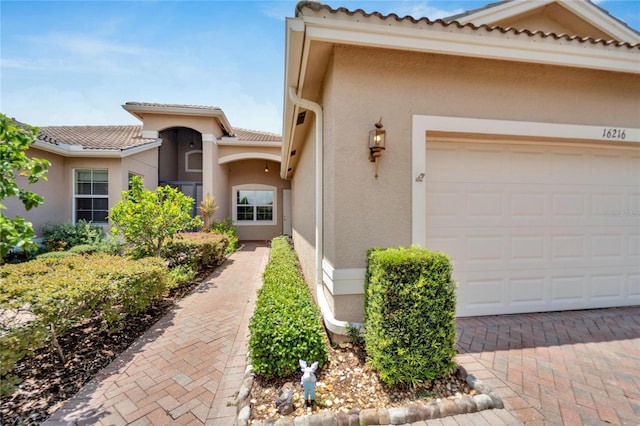
<path fill-rule="evenodd" d="M 281 177 L 333 334 L 362 322 L 372 247 L 446 252 L 459 316 L 640 304 L 635 30 L 589 1 L 437 21 L 301 2 L 285 58 Z"/>

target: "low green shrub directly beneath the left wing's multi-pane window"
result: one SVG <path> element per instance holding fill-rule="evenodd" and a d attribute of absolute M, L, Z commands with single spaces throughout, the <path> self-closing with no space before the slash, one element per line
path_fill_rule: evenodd
<path fill-rule="evenodd" d="M 69 250 L 81 244 L 98 245 L 104 238 L 104 231 L 100 225 L 83 219 L 75 224 L 47 223 L 42 227 L 43 244 L 49 251 Z"/>

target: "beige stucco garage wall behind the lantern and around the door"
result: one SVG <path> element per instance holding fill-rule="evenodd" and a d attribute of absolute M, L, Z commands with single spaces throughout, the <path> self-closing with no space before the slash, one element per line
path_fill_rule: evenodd
<path fill-rule="evenodd" d="M 370 247 L 411 244 L 413 114 L 639 127 L 637 75 L 352 46 L 335 47 L 327 72 L 324 257 L 336 269 L 364 268 Z M 376 180 L 367 137 L 380 117 L 387 149 Z M 294 197 L 313 193 L 309 166 L 296 170 Z M 299 252 L 303 265 L 310 253 Z M 337 319 L 361 319 L 354 296 L 328 296 Z"/>

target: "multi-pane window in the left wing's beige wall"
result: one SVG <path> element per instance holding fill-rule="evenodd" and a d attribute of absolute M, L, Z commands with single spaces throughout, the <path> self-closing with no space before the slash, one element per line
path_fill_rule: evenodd
<path fill-rule="evenodd" d="M 75 221 L 84 219 L 106 223 L 109 214 L 109 171 L 74 171 L 73 202 Z"/>

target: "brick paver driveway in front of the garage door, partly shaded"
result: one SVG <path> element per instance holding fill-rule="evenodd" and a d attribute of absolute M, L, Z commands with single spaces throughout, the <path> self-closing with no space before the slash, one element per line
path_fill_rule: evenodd
<path fill-rule="evenodd" d="M 458 361 L 524 424 L 640 425 L 640 307 L 461 318 Z"/>

